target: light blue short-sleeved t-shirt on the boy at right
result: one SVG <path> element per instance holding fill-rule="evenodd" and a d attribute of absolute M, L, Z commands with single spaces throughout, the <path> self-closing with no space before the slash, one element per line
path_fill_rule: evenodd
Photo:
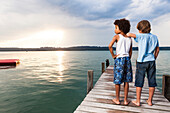
<path fill-rule="evenodd" d="M 135 41 L 138 42 L 137 62 L 155 61 L 154 51 L 159 46 L 158 38 L 151 33 L 136 34 Z"/>

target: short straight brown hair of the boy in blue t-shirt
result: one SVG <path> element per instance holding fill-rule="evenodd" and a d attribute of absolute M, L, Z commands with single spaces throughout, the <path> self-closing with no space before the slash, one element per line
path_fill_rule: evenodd
<path fill-rule="evenodd" d="M 137 24 L 137 29 L 142 31 L 142 33 L 150 33 L 151 25 L 148 20 L 142 20 Z"/>

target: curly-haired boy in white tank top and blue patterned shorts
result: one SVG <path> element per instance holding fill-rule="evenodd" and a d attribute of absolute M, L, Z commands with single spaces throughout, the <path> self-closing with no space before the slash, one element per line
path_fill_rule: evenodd
<path fill-rule="evenodd" d="M 126 19 L 115 20 L 115 35 L 109 44 L 110 53 L 114 61 L 114 83 L 116 89 L 115 104 L 120 104 L 120 84 L 124 82 L 124 105 L 128 105 L 127 100 L 129 91 L 129 82 L 132 82 L 132 40 L 126 34 L 130 31 L 130 22 Z M 113 44 L 116 45 L 116 54 L 113 53 Z"/>

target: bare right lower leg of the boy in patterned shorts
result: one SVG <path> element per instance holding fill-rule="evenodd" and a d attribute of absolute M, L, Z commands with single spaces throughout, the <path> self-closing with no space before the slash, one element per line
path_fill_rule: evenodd
<path fill-rule="evenodd" d="M 124 82 L 124 105 L 128 105 L 129 82 Z"/>

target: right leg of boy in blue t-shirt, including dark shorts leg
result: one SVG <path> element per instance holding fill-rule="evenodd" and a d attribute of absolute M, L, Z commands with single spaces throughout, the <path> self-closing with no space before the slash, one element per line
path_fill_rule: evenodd
<path fill-rule="evenodd" d="M 156 84 L 156 65 L 155 61 L 149 62 L 147 71 L 148 84 L 149 84 L 149 98 L 147 100 L 148 105 L 152 106 L 152 98 L 154 95 Z"/>

